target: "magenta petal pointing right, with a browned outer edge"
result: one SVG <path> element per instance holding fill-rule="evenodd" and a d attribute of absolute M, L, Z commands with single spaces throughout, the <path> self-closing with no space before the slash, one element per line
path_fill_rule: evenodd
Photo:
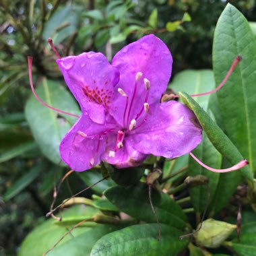
<path fill-rule="evenodd" d="M 176 158 L 201 142 L 201 126 L 195 114 L 175 101 L 150 105 L 145 123 L 127 137 L 143 154 Z"/>

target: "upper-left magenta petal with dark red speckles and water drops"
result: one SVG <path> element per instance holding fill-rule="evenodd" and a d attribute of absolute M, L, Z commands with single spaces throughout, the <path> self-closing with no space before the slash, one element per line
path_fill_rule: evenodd
<path fill-rule="evenodd" d="M 102 53 L 82 53 L 57 60 L 65 82 L 79 102 L 82 110 L 90 113 L 98 109 L 96 123 L 104 123 L 104 108 L 113 100 L 114 87 L 119 82 L 119 71 L 112 67 Z"/>

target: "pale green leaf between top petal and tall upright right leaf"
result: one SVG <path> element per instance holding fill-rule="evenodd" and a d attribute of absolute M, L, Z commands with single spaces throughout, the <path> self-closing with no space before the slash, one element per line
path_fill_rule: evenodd
<path fill-rule="evenodd" d="M 187 94 L 200 94 L 214 89 L 214 73 L 210 69 L 193 70 L 187 69 L 181 71 L 174 76 L 172 83 L 168 88 L 174 92 L 186 91 Z M 207 109 L 210 95 L 203 97 L 197 96 L 193 98 L 204 109 Z"/>

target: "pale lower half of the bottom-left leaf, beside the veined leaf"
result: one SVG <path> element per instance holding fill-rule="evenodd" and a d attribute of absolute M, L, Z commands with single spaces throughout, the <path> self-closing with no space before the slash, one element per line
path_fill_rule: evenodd
<path fill-rule="evenodd" d="M 117 230 L 118 227 L 110 225 L 100 225 L 94 228 L 87 229 L 82 234 L 75 236 L 63 245 L 57 247 L 47 255 L 49 256 L 89 256 L 92 247 L 98 241 L 99 238 Z"/>

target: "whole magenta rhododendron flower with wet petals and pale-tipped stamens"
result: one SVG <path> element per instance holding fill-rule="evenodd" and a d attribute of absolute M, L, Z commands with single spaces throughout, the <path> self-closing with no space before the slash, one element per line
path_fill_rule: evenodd
<path fill-rule="evenodd" d="M 57 60 L 82 116 L 61 141 L 62 160 L 73 170 L 100 161 L 138 166 L 148 154 L 176 158 L 201 142 L 193 112 L 176 101 L 160 103 L 172 56 L 154 35 L 125 46 L 110 65 L 102 53 Z"/>

